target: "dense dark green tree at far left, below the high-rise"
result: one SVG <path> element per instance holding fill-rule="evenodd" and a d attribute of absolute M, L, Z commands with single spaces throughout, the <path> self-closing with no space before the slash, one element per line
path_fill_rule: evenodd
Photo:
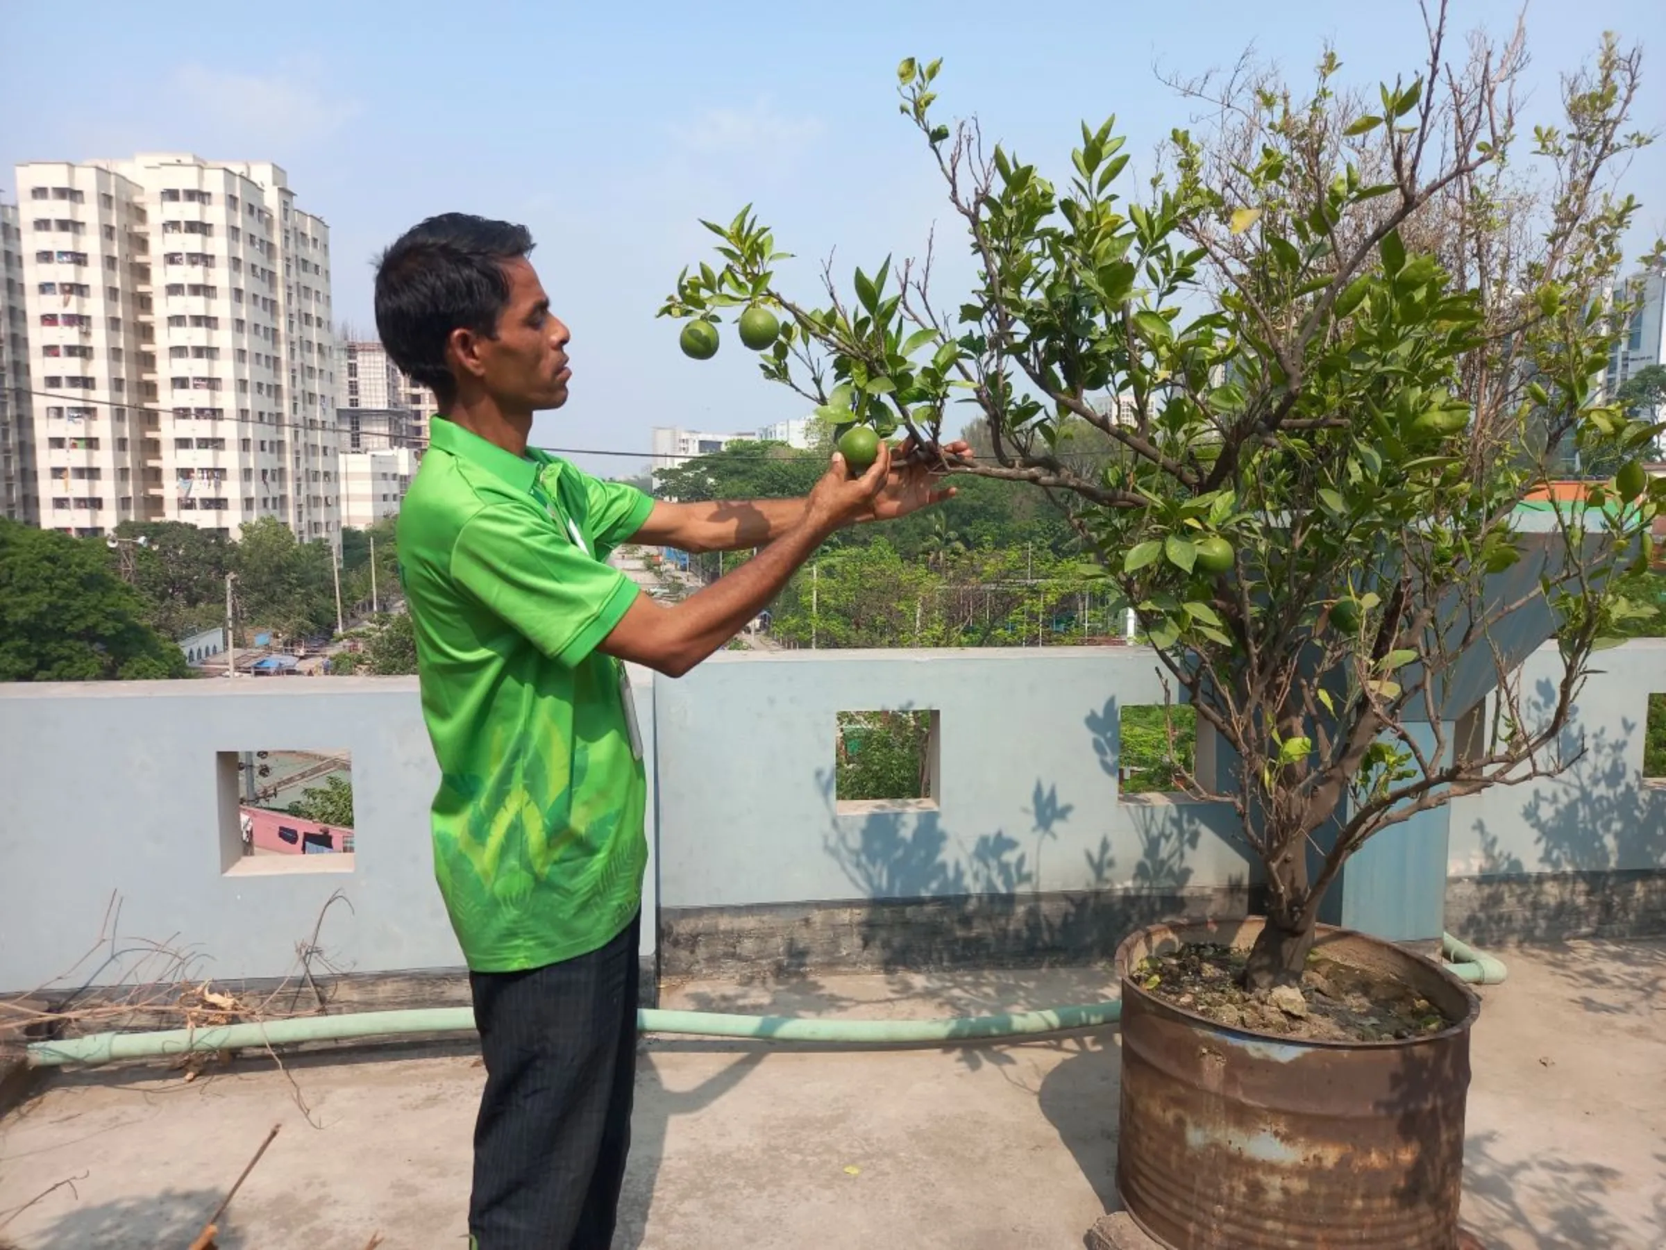
<path fill-rule="evenodd" d="M 138 592 L 85 538 L 0 520 L 0 682 L 187 677 Z"/>

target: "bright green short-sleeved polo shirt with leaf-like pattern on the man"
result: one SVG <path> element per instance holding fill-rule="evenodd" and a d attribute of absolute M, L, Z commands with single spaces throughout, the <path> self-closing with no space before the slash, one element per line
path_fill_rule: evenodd
<path fill-rule="evenodd" d="M 641 905 L 646 780 L 621 665 L 596 643 L 636 598 L 608 552 L 651 508 L 433 420 L 400 508 L 400 580 L 440 760 L 435 875 L 475 972 L 585 955 Z"/>

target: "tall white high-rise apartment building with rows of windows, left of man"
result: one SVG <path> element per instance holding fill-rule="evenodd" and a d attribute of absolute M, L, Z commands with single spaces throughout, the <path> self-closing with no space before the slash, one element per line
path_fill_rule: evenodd
<path fill-rule="evenodd" d="M 338 543 L 330 232 L 285 172 L 142 153 L 17 183 L 40 523 Z"/>

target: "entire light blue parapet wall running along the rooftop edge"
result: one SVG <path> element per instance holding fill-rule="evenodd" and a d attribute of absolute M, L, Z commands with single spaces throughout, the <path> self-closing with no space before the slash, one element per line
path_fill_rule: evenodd
<path fill-rule="evenodd" d="M 1666 792 L 1641 763 L 1666 643 L 1603 652 L 1598 667 L 1569 732 L 1583 730 L 1586 758 L 1384 840 L 1376 877 L 1349 887 L 1373 915 L 1418 915 L 1414 937 L 1438 938 L 1438 923 L 1423 930 L 1441 912 L 1441 863 L 1483 883 L 1663 868 Z M 1558 668 L 1553 650 L 1536 652 L 1529 695 Z M 725 653 L 680 682 L 635 677 L 656 785 L 650 913 L 1251 878 L 1228 808 L 1118 797 L 1118 710 L 1163 700 L 1143 650 Z M 836 713 L 878 708 L 936 713 L 930 805 L 836 802 Z M 257 748 L 352 752 L 350 863 L 242 857 L 235 770 L 220 753 Z M 1205 738 L 1201 768 L 1225 772 L 1216 755 Z M 342 970 L 456 967 L 428 848 L 435 782 L 413 678 L 0 687 L 0 992 L 70 968 L 112 897 L 120 937 L 190 945 L 203 977 L 288 973 L 335 890 L 352 910 L 330 910 L 320 945 Z M 98 958 L 78 978 L 107 980 Z"/>

